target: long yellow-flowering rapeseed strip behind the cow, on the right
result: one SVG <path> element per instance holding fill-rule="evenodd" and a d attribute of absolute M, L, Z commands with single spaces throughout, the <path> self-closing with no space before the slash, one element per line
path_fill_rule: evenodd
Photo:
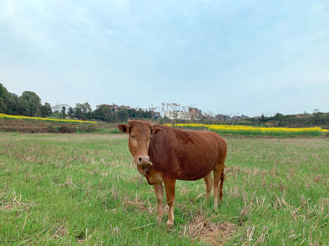
<path fill-rule="evenodd" d="M 321 136 L 328 130 L 319 127 L 308 128 L 286 128 L 286 127 L 254 127 L 239 125 L 217 125 L 217 124 L 176 124 L 178 127 L 207 128 L 220 134 L 232 135 L 264 135 L 264 136 Z"/>

